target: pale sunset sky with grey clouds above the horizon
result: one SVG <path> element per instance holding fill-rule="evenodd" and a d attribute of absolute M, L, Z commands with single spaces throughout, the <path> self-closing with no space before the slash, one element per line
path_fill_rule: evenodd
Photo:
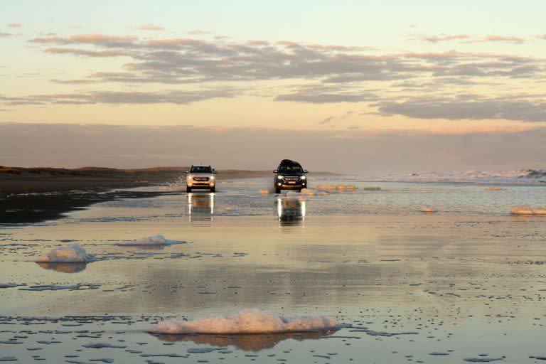
<path fill-rule="evenodd" d="M 543 14 L 544 1 L 3 1 L 0 165 L 545 168 Z"/>

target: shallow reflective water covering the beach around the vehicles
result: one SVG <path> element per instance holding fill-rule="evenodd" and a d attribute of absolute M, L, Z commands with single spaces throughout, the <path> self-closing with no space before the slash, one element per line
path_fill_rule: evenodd
<path fill-rule="evenodd" d="M 227 181 L 215 194 L 99 203 L 45 224 L 0 229 L 0 287 L 6 284 L 0 358 L 542 362 L 546 217 L 509 210 L 546 206 L 546 186 L 483 191 L 495 185 L 322 178 L 314 184 L 358 189 L 305 198 L 260 195 L 269 182 Z M 422 213 L 424 206 L 439 212 Z M 188 243 L 116 245 L 157 233 Z M 33 262 L 73 242 L 99 260 Z M 269 335 L 146 333 L 168 318 L 251 307 L 331 316 L 343 327 Z M 86 347 L 97 343 L 117 347 Z"/>

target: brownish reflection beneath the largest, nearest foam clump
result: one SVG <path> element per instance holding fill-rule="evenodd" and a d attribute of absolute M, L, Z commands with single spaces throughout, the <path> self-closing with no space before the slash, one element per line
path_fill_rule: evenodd
<path fill-rule="evenodd" d="M 154 335 L 161 341 L 193 341 L 197 344 L 211 346 L 235 346 L 245 351 L 259 351 L 276 346 L 283 340 L 293 339 L 303 341 L 317 340 L 323 336 L 335 333 L 337 330 L 312 331 L 303 333 L 244 333 L 235 335 L 187 334 L 187 335 Z"/>

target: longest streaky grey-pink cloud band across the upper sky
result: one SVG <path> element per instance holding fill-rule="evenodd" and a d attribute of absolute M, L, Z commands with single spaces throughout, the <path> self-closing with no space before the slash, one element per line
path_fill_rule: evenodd
<path fill-rule="evenodd" d="M 367 47 L 294 41 L 233 42 L 197 38 L 141 40 L 133 36 L 100 34 L 41 37 L 31 42 L 55 45 L 45 48 L 46 53 L 93 58 L 124 56 L 132 59 L 124 65 L 124 71 L 132 75 L 109 78 L 105 82 L 188 83 L 284 79 L 355 84 L 448 75 L 509 78 L 545 75 L 542 60 L 454 50 L 443 53 L 381 54 Z M 279 100 L 284 98 L 279 97 Z"/>

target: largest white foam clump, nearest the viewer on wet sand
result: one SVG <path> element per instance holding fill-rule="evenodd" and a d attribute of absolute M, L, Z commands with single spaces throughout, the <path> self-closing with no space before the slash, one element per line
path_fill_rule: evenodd
<path fill-rule="evenodd" d="M 285 317 L 267 309 L 242 309 L 235 314 L 201 316 L 191 321 L 162 321 L 151 333 L 286 333 L 321 331 L 338 328 L 335 320 L 326 316 Z"/>

